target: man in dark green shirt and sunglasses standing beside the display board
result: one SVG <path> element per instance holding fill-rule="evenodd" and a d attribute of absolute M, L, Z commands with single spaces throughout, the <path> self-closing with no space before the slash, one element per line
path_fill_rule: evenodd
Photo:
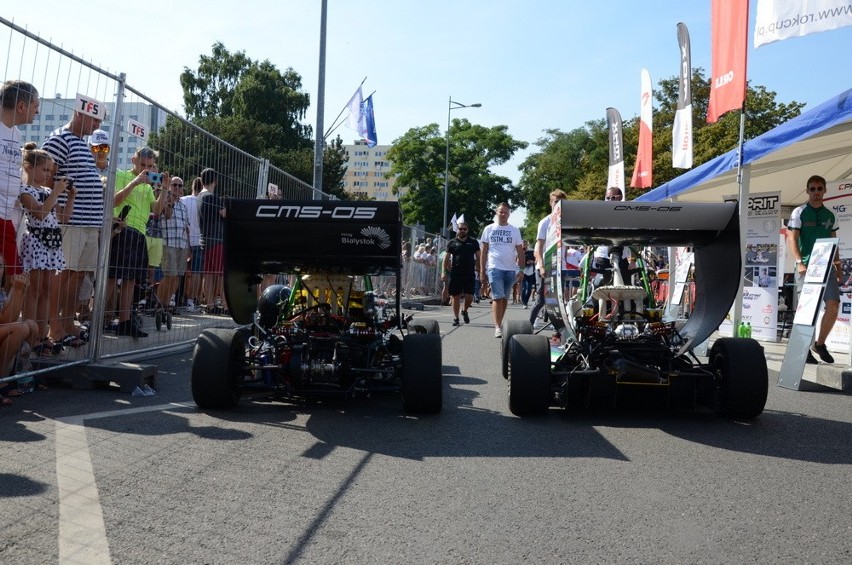
<path fill-rule="evenodd" d="M 825 196 L 825 179 L 814 175 L 808 179 L 805 185 L 808 191 L 808 201 L 790 215 L 787 222 L 787 247 L 796 262 L 796 286 L 799 292 L 804 284 L 805 273 L 808 270 L 808 261 L 814 242 L 826 237 L 837 237 L 837 220 L 834 214 L 823 205 Z M 819 355 L 826 363 L 834 363 L 834 357 L 828 352 L 825 340 L 837 321 L 840 311 L 840 254 L 838 253 L 832 263 L 831 272 L 825 285 L 825 311 L 822 314 L 822 322 L 819 326 L 819 335 L 816 342 L 811 346 L 811 351 Z M 808 351 L 808 363 L 816 365 L 818 361 L 813 353 Z"/>

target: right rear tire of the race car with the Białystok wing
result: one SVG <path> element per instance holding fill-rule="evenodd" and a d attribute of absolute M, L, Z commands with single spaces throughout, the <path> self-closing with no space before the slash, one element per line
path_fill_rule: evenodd
<path fill-rule="evenodd" d="M 441 337 L 408 334 L 402 340 L 402 406 L 412 414 L 437 414 L 443 405 Z"/>

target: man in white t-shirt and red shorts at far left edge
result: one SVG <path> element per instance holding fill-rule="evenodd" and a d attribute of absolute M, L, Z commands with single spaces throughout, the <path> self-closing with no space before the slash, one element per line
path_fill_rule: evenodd
<path fill-rule="evenodd" d="M 21 132 L 38 115 L 38 90 L 28 82 L 9 80 L 0 85 L 0 254 L 6 261 L 7 284 L 21 272 L 16 227 L 23 211 L 21 194 Z M 8 288 L 6 289 L 8 290 Z"/>

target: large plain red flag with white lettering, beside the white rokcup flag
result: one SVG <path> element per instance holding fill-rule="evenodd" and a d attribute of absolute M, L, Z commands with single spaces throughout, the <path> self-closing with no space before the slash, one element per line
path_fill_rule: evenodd
<path fill-rule="evenodd" d="M 748 0 L 712 0 L 710 10 L 713 73 L 707 122 L 712 124 L 745 102 Z"/>

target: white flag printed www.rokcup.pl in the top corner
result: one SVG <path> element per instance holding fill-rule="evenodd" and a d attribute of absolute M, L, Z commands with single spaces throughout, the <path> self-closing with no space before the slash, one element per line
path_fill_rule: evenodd
<path fill-rule="evenodd" d="M 852 26 L 848 0 L 757 0 L 754 46 Z"/>

